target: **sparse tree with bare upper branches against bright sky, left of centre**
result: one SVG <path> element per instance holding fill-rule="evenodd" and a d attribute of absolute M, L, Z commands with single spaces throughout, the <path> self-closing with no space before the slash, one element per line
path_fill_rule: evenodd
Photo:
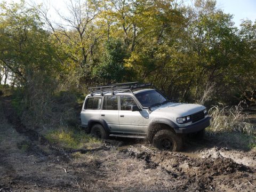
<path fill-rule="evenodd" d="M 51 21 L 47 14 L 49 10 L 47 7 L 39 10 L 55 38 L 55 44 L 59 45 L 60 61 L 67 66 L 71 73 L 70 76 L 76 76 L 78 85 L 91 79 L 90 68 L 95 46 L 102 37 L 101 23 L 98 22 L 102 6 L 100 2 L 98 0 L 70 0 L 67 4 L 68 11 L 65 14 L 56 10 L 61 23 Z"/>

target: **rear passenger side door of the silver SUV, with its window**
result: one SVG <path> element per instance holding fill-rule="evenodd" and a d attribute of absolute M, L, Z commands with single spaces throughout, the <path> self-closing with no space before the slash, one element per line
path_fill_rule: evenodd
<path fill-rule="evenodd" d="M 117 95 L 109 95 L 104 97 L 100 118 L 106 121 L 111 132 L 119 131 Z"/>

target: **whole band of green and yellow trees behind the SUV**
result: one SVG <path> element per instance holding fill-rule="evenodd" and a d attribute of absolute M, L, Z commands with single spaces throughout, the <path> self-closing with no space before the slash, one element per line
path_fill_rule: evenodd
<path fill-rule="evenodd" d="M 0 4 L 0 80 L 6 73 L 20 92 L 13 106 L 26 118 L 75 125 L 75 118 L 63 121 L 75 117 L 65 103 L 82 103 L 95 84 L 151 81 L 170 98 L 209 106 L 238 103 L 256 89 L 256 23 L 234 27 L 214 0 L 193 7 L 84 0 L 68 7 L 57 24 L 43 6 Z"/>

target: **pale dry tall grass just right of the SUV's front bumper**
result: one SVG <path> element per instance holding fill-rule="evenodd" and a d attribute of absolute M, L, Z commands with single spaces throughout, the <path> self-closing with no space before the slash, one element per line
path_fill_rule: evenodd
<path fill-rule="evenodd" d="M 242 132 L 249 135 L 256 135 L 255 125 L 249 123 L 247 114 L 242 113 L 240 105 L 233 107 L 224 107 L 222 103 L 219 106 L 213 106 L 209 110 L 212 117 L 211 130 L 215 132 Z"/>

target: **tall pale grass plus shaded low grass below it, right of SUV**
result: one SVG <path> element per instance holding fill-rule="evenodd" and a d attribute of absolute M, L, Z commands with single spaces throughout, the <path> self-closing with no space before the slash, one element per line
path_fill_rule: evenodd
<path fill-rule="evenodd" d="M 256 126 L 238 106 L 213 106 L 209 110 L 212 124 L 206 129 L 209 138 L 215 138 L 223 146 L 237 149 L 256 149 Z"/>

